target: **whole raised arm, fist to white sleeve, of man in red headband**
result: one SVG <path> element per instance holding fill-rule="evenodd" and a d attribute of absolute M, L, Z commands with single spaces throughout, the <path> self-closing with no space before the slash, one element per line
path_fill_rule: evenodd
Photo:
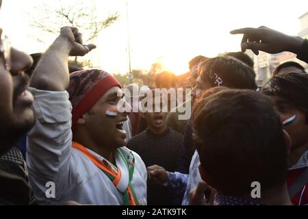
<path fill-rule="evenodd" d="M 66 92 L 68 55 L 86 55 L 94 47 L 82 45 L 77 29 L 63 27 L 31 79 L 29 91 L 34 95 L 36 124 L 27 134 L 27 169 L 39 204 L 61 203 L 75 185 L 78 173 L 71 170 L 76 165 L 71 159 L 72 105 Z M 49 183 L 57 188 L 53 196 L 47 196 Z"/>

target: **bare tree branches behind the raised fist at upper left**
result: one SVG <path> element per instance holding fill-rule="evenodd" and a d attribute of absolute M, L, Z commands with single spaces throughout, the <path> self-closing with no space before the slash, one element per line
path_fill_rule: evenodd
<path fill-rule="evenodd" d="M 71 25 L 77 27 L 79 31 L 83 34 L 84 43 L 95 40 L 103 29 L 109 27 L 116 21 L 118 21 L 118 12 L 114 12 L 104 18 L 98 18 L 97 8 L 93 4 L 93 1 L 86 3 L 82 0 L 74 1 L 63 1 L 59 0 L 59 7 L 51 7 L 46 3 L 38 5 L 35 10 L 40 14 L 40 17 L 33 16 L 33 14 L 27 14 L 31 18 L 31 26 L 39 31 L 47 34 L 59 34 L 60 27 L 64 25 Z M 38 42 L 44 42 L 42 34 L 40 36 L 35 36 Z M 88 66 L 90 65 L 87 62 Z"/>

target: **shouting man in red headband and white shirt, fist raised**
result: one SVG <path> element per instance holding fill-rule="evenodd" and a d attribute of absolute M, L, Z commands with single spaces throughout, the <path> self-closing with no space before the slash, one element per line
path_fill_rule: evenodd
<path fill-rule="evenodd" d="M 40 204 L 146 204 L 146 167 L 123 147 L 127 114 L 116 110 L 120 83 L 103 70 L 68 75 L 68 55 L 94 48 L 82 45 L 77 29 L 62 28 L 31 80 L 36 125 L 27 165 Z"/>

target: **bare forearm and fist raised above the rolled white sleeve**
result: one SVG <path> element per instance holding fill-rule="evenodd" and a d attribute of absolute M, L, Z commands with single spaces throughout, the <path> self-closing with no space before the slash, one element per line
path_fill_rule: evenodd
<path fill-rule="evenodd" d="M 94 44 L 83 45 L 75 27 L 62 27 L 51 47 L 38 63 L 31 78 L 31 87 L 39 90 L 64 91 L 68 86 L 68 56 L 84 56 Z"/>

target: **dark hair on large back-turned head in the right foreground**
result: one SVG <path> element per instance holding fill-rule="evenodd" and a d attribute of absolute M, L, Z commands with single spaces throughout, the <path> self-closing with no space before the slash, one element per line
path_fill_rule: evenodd
<path fill-rule="evenodd" d="M 194 142 L 209 185 L 220 194 L 251 193 L 285 183 L 287 149 L 283 127 L 270 100 L 252 90 L 211 94 L 193 110 Z"/>

